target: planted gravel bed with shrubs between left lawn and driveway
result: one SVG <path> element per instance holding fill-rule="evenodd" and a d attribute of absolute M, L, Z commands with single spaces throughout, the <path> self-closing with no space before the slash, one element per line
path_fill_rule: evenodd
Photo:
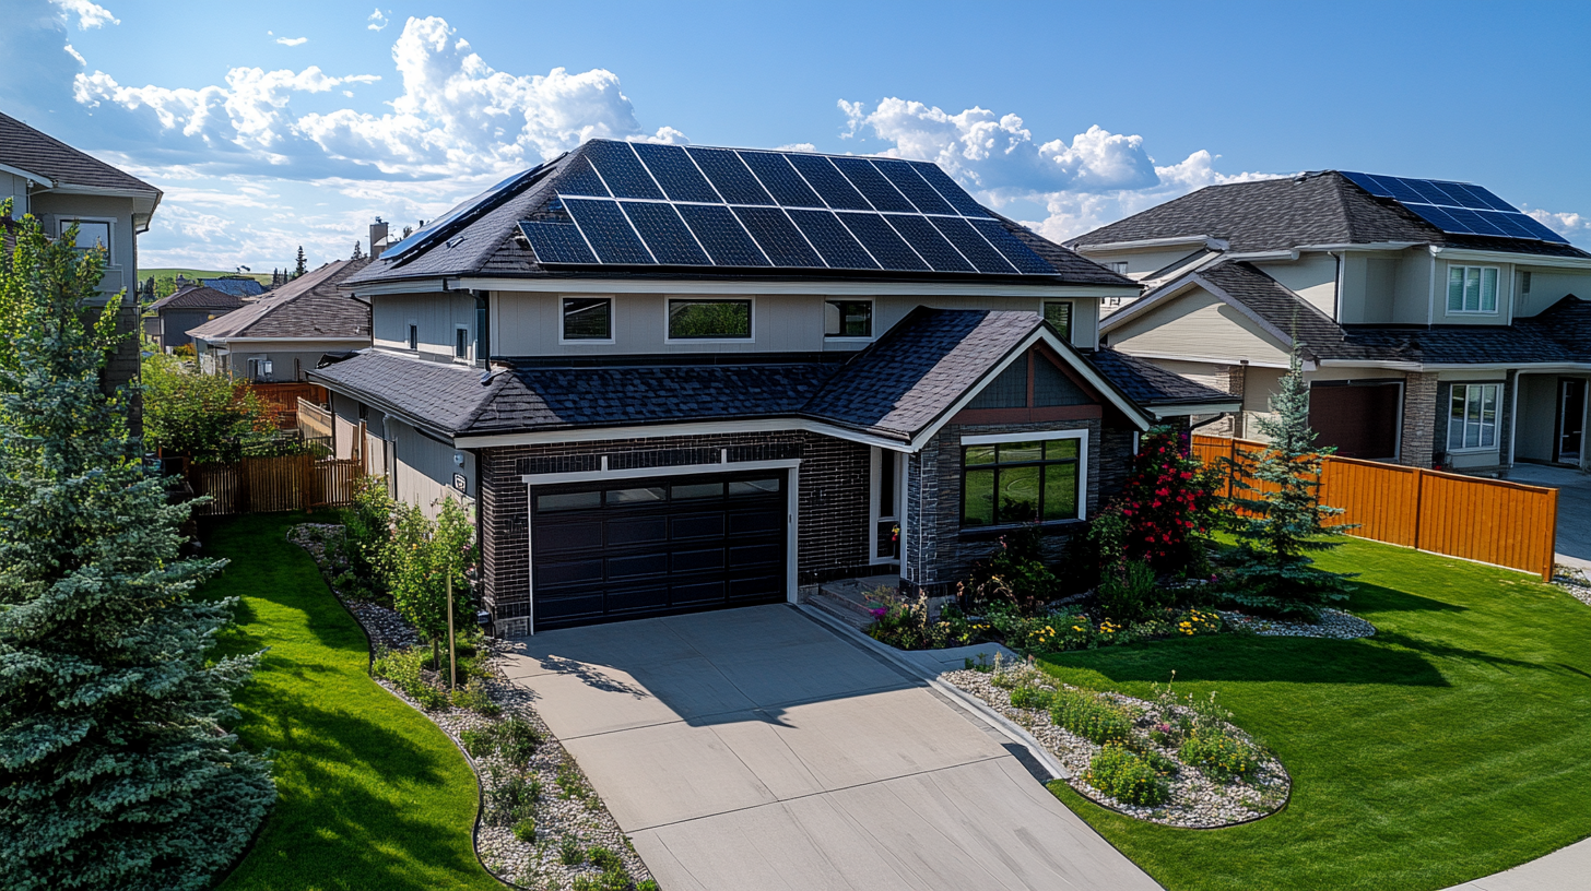
<path fill-rule="evenodd" d="M 530 694 L 484 657 L 461 660 L 469 684 L 449 695 L 398 613 L 348 597 L 342 527 L 302 523 L 288 533 L 315 558 L 333 593 L 371 638 L 375 683 L 425 713 L 458 746 L 480 780 L 476 827 L 480 862 L 500 880 L 538 889 L 655 891 L 646 864 L 619 831 L 574 759 L 531 708 Z M 466 665 L 468 662 L 468 665 Z"/>

